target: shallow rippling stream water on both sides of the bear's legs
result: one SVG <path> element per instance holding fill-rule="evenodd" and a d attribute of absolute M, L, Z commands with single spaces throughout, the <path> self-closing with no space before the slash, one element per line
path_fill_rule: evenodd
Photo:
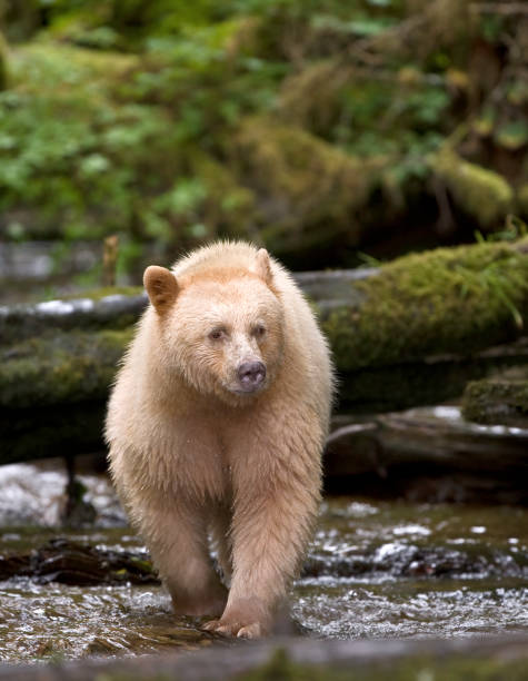
<path fill-rule="evenodd" d="M 140 541 L 119 526 L 122 515 L 108 483 L 94 476 L 83 481 L 97 507 L 98 526 L 69 531 L 68 539 L 142 556 Z M 61 474 L 33 466 L 0 468 L 0 556 L 64 535 L 36 526 L 57 517 L 50 499 L 60 500 L 62 483 Z M 17 517 L 23 526 L 16 526 Z M 292 613 L 318 636 L 527 632 L 528 510 L 328 499 L 292 592 Z M 2 661 L 210 644 L 211 636 L 198 624 L 176 620 L 168 596 L 156 584 L 78 586 L 28 576 L 0 582 Z"/>

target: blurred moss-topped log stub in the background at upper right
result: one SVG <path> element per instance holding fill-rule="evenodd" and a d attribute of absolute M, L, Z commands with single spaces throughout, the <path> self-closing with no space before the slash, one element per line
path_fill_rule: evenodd
<path fill-rule="evenodd" d="M 432 162 L 432 169 L 446 184 L 455 203 L 485 229 L 497 227 L 511 210 L 514 190 L 495 172 L 444 150 Z"/>

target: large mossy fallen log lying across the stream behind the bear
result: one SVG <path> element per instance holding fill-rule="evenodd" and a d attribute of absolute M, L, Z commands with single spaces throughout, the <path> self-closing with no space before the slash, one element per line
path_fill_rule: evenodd
<path fill-rule="evenodd" d="M 522 337 L 528 318 L 527 248 L 526 240 L 478 244 L 377 269 L 297 275 L 329 338 L 341 404 L 363 412 L 432 404 L 498 362 L 526 362 L 522 343 L 504 344 Z M 1 462 L 101 446 L 97 414 L 146 305 L 138 290 L 0 308 Z"/>

